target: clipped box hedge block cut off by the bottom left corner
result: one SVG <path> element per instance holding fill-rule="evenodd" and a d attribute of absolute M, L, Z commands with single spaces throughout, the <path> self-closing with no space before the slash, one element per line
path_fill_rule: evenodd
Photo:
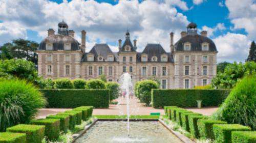
<path fill-rule="evenodd" d="M 0 143 L 24 143 L 24 142 L 26 142 L 25 133 L 11 133 L 11 132 L 0 133 Z"/>

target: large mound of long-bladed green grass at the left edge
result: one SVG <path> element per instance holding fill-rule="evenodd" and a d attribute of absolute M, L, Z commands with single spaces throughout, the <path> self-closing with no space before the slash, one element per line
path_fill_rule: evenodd
<path fill-rule="evenodd" d="M 28 123 L 44 107 L 46 99 L 25 80 L 0 81 L 0 131 L 18 123 Z"/>

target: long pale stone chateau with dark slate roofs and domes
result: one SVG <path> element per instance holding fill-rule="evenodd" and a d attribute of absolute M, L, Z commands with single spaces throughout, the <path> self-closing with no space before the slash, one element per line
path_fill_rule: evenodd
<path fill-rule="evenodd" d="M 37 50 L 38 74 L 44 78 L 90 80 L 104 74 L 108 81 L 118 81 L 129 72 L 133 83 L 155 76 L 162 89 L 190 89 L 210 84 L 217 72 L 215 43 L 206 31 L 198 34 L 193 22 L 175 44 L 174 33 L 170 33 L 169 51 L 160 44 L 147 44 L 137 52 L 137 41 L 132 43 L 127 31 L 124 42 L 118 40 L 118 52 L 111 51 L 108 44 L 95 44 L 86 52 L 85 31 L 81 32 L 81 44 L 63 21 L 58 23 L 58 34 L 54 33 L 50 28 Z"/>

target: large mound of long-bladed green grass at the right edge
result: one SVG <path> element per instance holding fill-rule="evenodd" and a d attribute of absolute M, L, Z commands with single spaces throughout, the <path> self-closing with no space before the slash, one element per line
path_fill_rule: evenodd
<path fill-rule="evenodd" d="M 212 116 L 229 124 L 242 124 L 256 130 L 256 76 L 247 76 L 230 92 Z"/>

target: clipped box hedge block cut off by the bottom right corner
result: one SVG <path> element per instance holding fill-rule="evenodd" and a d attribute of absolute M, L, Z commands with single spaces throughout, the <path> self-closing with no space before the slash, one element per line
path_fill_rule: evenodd
<path fill-rule="evenodd" d="M 256 131 L 232 131 L 232 143 L 255 143 Z"/>

